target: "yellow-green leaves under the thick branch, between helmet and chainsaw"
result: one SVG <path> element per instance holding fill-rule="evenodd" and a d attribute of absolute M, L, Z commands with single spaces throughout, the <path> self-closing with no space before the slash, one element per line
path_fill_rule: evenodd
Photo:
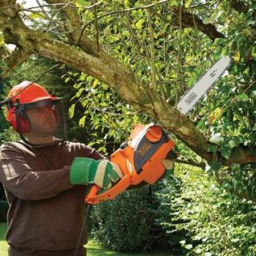
<path fill-rule="evenodd" d="M 76 89 L 69 116 L 76 116 L 80 127 L 89 129 L 88 144 L 104 154 L 111 154 L 127 140 L 133 124 L 150 120 L 119 98 L 115 90 L 85 73 L 68 72 L 67 80 L 74 81 Z"/>

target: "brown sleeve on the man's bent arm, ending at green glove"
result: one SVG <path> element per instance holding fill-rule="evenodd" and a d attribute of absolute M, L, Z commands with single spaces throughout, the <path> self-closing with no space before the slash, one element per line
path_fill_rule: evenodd
<path fill-rule="evenodd" d="M 24 159 L 24 154 L 14 147 L 2 147 L 0 163 L 0 181 L 15 197 L 23 200 L 54 197 L 73 187 L 69 183 L 70 167 L 33 171 Z"/>

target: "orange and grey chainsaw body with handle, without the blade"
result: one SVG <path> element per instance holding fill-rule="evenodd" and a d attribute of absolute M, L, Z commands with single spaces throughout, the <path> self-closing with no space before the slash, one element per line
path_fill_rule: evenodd
<path fill-rule="evenodd" d="M 98 193 L 99 188 L 94 184 L 85 197 L 85 202 L 98 204 L 114 199 L 129 186 L 140 184 L 143 181 L 154 184 L 165 173 L 166 169 L 162 161 L 173 150 L 173 147 L 174 142 L 167 137 L 160 126 L 156 124 L 135 125 L 132 128 L 130 141 L 111 154 L 111 162 L 118 164 L 124 177 L 111 189 L 102 193 Z"/>

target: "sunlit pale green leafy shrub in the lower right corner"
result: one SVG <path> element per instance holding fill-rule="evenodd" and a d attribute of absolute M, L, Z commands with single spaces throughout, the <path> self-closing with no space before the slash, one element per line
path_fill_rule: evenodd
<path fill-rule="evenodd" d="M 176 176 L 156 193 L 169 242 L 178 237 L 188 255 L 254 255 L 255 202 L 232 197 L 194 167 L 177 168 Z"/>

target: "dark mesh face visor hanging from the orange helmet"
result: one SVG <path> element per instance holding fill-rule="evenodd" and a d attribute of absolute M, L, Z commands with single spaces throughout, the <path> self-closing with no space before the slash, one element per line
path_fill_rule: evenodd
<path fill-rule="evenodd" d="M 42 100 L 26 104 L 17 104 L 16 106 L 18 130 L 22 131 L 22 126 L 28 125 L 28 132 L 20 132 L 20 137 L 28 144 L 33 146 L 43 146 L 45 144 L 33 144 L 28 141 L 29 134 L 43 135 L 53 137 L 54 144 L 66 139 L 66 120 L 61 98 L 54 100 Z M 21 124 L 24 122 L 24 124 Z"/>

